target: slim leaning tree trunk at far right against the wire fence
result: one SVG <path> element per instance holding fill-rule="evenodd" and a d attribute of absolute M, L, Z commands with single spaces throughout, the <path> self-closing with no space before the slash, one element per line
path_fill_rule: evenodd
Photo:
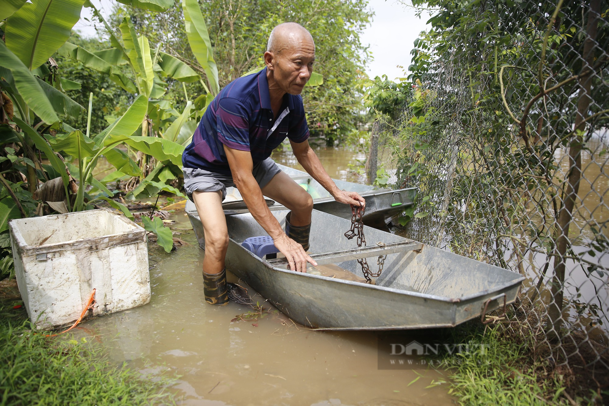
<path fill-rule="evenodd" d="M 598 17 L 600 10 L 600 0 L 590 1 L 590 10 L 588 10 L 588 25 L 586 27 L 587 35 L 583 45 L 583 60 L 582 71 L 591 69 L 594 65 L 594 42 L 596 40 L 596 31 L 598 26 Z M 586 123 L 584 120 L 588 116 L 588 108 L 590 107 L 591 95 L 590 87 L 592 84 L 593 73 L 586 74 L 580 77 L 580 96 L 577 101 L 577 115 L 575 119 L 575 132 L 569 143 L 569 173 L 565 193 L 563 194 L 563 206 L 558 213 L 557 224 L 557 239 L 555 245 L 554 256 L 554 277 L 552 277 L 552 302 L 548 309 L 550 322 L 547 326 L 548 336 L 551 338 L 560 338 L 560 329 L 563 318 L 563 297 L 565 294 L 565 254 L 571 241 L 569 241 L 569 226 L 573 218 L 573 207 L 579 191 L 579 182 L 582 178 L 582 147 L 583 137 L 581 132 L 585 130 Z"/>

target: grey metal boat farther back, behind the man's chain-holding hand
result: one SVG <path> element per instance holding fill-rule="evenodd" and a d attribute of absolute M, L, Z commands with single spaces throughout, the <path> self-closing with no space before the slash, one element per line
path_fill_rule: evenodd
<path fill-rule="evenodd" d="M 289 166 L 277 164 L 282 171 L 294 179 L 313 198 L 313 207 L 322 212 L 351 219 L 351 208 L 339 203 L 325 190 L 322 185 L 313 179 L 311 175 Z M 384 221 L 391 216 L 399 215 L 406 208 L 412 206 L 417 196 L 417 188 L 403 188 L 398 190 L 381 189 L 376 186 L 362 185 L 361 183 L 347 182 L 346 180 L 333 179 L 336 186 L 342 190 L 356 191 L 366 199 L 366 212 L 362 218 L 368 226 L 384 226 Z M 241 200 L 241 193 L 236 188 L 227 189 L 227 201 Z M 225 211 L 228 214 L 247 212 L 245 205 L 230 208 Z"/>

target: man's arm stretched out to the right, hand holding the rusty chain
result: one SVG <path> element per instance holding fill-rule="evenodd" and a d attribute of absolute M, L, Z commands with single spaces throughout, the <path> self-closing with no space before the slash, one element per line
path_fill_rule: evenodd
<path fill-rule="evenodd" d="M 359 196 L 358 193 L 340 190 L 336 186 L 336 183 L 334 183 L 334 180 L 328 175 L 326 169 L 323 169 L 322 163 L 319 161 L 315 151 L 309 146 L 308 140 L 301 143 L 295 143 L 290 140 L 290 144 L 292 144 L 292 151 L 294 151 L 294 156 L 298 160 L 298 163 L 300 163 L 300 165 L 305 168 L 305 171 L 307 171 L 313 179 L 317 180 L 325 190 L 329 191 L 337 202 L 350 204 L 351 207 L 365 207 L 366 201 L 362 196 Z"/>

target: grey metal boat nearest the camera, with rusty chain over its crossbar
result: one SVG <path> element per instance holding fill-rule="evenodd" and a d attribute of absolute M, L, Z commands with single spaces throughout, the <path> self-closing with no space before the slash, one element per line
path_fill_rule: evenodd
<path fill-rule="evenodd" d="M 286 208 L 273 206 L 285 224 Z M 199 245 L 203 227 L 194 204 L 186 204 Z M 497 266 L 364 226 L 371 246 L 357 248 L 343 233 L 351 221 L 313 210 L 311 256 L 318 266 L 360 274 L 358 258 L 375 271 L 387 255 L 375 285 L 319 274 L 290 271 L 285 260 L 257 257 L 241 243 L 266 235 L 250 213 L 226 216 L 230 242 L 227 269 L 244 280 L 278 310 L 317 330 L 400 330 L 454 327 L 515 301 L 524 277 Z M 372 242 L 374 241 L 374 242 Z M 376 242 L 381 244 L 376 244 Z"/>

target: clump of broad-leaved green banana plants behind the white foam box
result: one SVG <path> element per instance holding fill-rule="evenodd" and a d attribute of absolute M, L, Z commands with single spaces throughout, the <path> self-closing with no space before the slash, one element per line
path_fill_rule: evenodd
<path fill-rule="evenodd" d="M 121 2 L 153 11 L 162 11 L 173 5 L 172 0 Z M 100 191 L 96 199 L 107 200 L 130 216 L 124 206 L 110 199 L 112 192 L 107 189 L 105 182 L 94 179 L 93 169 L 99 157 L 105 156 L 117 169 L 116 173 L 124 176 L 139 176 L 141 171 L 124 151 L 117 148 L 120 144 L 142 150 L 158 160 L 171 162 L 172 165 L 181 162 L 183 147 L 179 144 L 161 138 L 134 137 L 133 133 L 144 121 L 148 108 L 147 98 L 158 98 L 164 93 L 164 84 L 159 75 L 167 73 L 165 76 L 183 82 L 200 80 L 200 77 L 180 60 L 159 52 L 158 47 L 156 50 L 150 49 L 147 38 L 136 37 L 133 26 L 128 21 L 121 27 L 127 41 L 125 46 L 114 35 L 113 48 L 103 51 L 88 52 L 66 43 L 72 27 L 80 18 L 83 4 L 91 6 L 88 0 L 2 0 L 0 27 L 4 31 L 4 38 L 0 40 L 0 108 L 8 116 L 10 125 L 0 124 L 0 144 L 13 144 L 21 148 L 23 156 L 15 159 L 13 171 L 15 179 L 20 179 L 18 171 L 27 171 L 30 193 L 27 194 L 21 187 L 23 182 L 9 182 L 0 174 L 0 182 L 4 186 L 1 218 L 32 215 L 37 207 L 32 200 L 32 193 L 39 181 L 50 179 L 60 180 L 58 185 L 63 184 L 66 201 L 72 210 L 86 208 L 85 197 L 90 199 L 91 196 L 85 190 L 91 185 L 93 190 Z M 54 71 L 57 65 L 51 56 L 58 49 L 85 66 L 107 73 L 111 80 L 125 90 L 139 94 L 127 112 L 96 137 L 90 137 L 89 129 L 84 133 L 66 124 L 66 118 L 80 115 L 85 109 L 62 91 L 79 88 L 79 84 L 58 77 Z M 122 73 L 119 68 L 121 65 L 129 65 L 135 71 L 135 84 Z M 57 132 L 57 137 L 50 135 L 49 129 Z M 5 150 L 7 157 L 3 160 L 12 159 L 15 149 L 7 147 Z M 35 150 L 48 163 L 38 158 Z M 58 151 L 76 157 L 77 166 L 63 162 L 60 155 L 56 154 Z M 4 174 L 8 176 L 6 172 Z M 70 191 L 76 190 L 73 178 L 80 182 L 74 205 L 69 199 Z M 164 183 L 154 183 L 155 187 L 175 191 Z M 89 203 L 92 201 L 94 200 L 90 199 Z M 4 230 L 0 230 L 2 231 Z"/>

